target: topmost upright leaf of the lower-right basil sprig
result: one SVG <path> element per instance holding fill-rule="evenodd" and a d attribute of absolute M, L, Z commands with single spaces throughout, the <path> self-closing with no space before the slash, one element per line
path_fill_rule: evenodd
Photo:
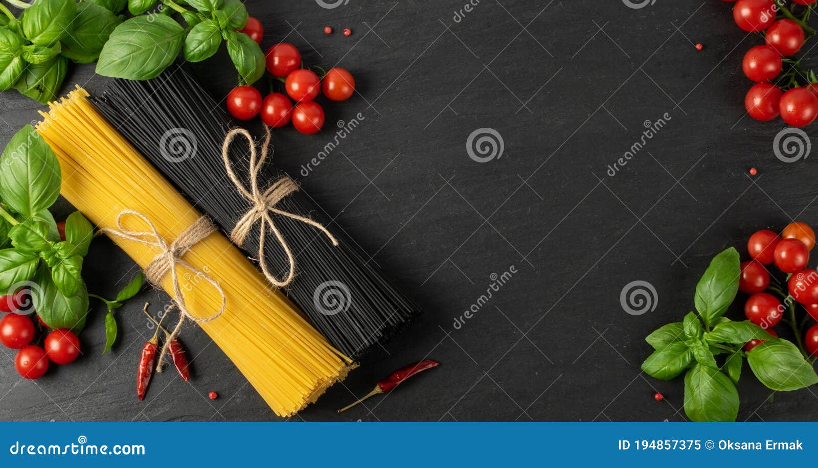
<path fill-rule="evenodd" d="M 724 315 L 739 291 L 739 252 L 733 247 L 716 255 L 696 285 L 696 310 L 705 323 Z"/>

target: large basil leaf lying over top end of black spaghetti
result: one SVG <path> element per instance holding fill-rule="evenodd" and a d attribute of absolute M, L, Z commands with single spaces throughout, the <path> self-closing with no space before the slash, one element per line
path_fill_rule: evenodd
<path fill-rule="evenodd" d="M 182 50 L 185 29 L 167 16 L 124 21 L 102 47 L 97 74 L 124 79 L 156 78 Z"/>

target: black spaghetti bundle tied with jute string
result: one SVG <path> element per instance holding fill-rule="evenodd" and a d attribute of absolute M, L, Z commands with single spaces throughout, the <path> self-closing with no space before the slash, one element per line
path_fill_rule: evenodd
<path fill-rule="evenodd" d="M 221 106 L 188 70 L 174 66 L 147 81 L 115 79 L 93 101 L 101 114 L 224 232 L 230 233 L 253 208 L 228 177 L 222 160 L 222 143 L 230 127 Z M 236 138 L 228 157 L 245 187 L 250 187 L 248 155 L 248 143 Z M 260 190 L 281 175 L 271 164 L 261 168 Z M 296 267 L 285 292 L 341 352 L 360 360 L 420 313 L 366 260 L 344 230 L 322 215 L 306 193 L 292 191 L 277 201 L 275 208 L 311 218 L 328 231 L 272 214 Z M 254 223 L 239 246 L 250 258 L 256 258 L 263 241 L 267 270 L 286 277 L 290 271 L 286 250 L 269 232 L 263 240 L 264 228 Z M 338 241 L 337 246 L 330 236 Z"/>

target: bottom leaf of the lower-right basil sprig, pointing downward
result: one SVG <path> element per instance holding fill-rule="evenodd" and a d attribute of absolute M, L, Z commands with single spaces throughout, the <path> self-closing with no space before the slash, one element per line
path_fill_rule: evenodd
<path fill-rule="evenodd" d="M 724 374 L 696 364 L 685 375 L 685 414 L 690 421 L 735 421 L 739 392 Z"/>

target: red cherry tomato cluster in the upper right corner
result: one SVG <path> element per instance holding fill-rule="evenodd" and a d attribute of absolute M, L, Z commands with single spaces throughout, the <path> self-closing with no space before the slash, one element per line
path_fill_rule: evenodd
<path fill-rule="evenodd" d="M 798 5 L 816 1 L 793 0 Z M 765 41 L 764 45 L 752 47 L 741 63 L 744 74 L 756 83 L 744 97 L 744 108 L 753 119 L 767 121 L 780 115 L 787 124 L 803 127 L 818 117 L 818 80 L 786 57 L 801 50 L 807 31 L 815 31 L 803 20 L 792 18 L 797 16 L 773 0 L 738 0 L 733 8 L 735 24 L 744 31 L 764 34 Z M 782 74 L 785 63 L 792 65 Z"/>

